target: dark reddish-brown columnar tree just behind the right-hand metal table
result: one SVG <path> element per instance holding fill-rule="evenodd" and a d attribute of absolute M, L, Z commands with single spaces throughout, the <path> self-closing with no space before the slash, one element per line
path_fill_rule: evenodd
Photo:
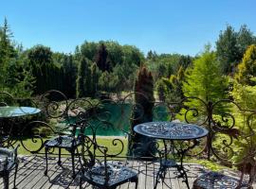
<path fill-rule="evenodd" d="M 155 141 L 134 132 L 137 124 L 153 121 L 154 81 L 151 72 L 146 67 L 140 67 L 135 82 L 135 104 L 131 119 L 132 137 L 129 139 L 129 150 L 134 150 L 136 156 L 150 157 L 154 153 Z M 131 154 L 131 151 L 129 151 Z"/>

